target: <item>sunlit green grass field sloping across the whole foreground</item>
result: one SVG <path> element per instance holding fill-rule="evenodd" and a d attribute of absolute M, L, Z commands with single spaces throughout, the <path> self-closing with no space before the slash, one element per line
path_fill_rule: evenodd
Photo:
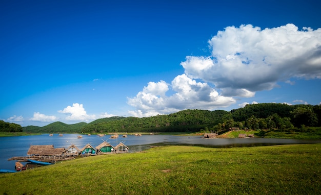
<path fill-rule="evenodd" d="M 321 144 L 166 146 L 0 175 L 0 194 L 320 194 Z"/>

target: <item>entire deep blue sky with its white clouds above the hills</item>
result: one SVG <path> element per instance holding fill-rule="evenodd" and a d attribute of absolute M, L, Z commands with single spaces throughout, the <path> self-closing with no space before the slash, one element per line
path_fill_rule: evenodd
<path fill-rule="evenodd" d="M 318 1 L 1 1 L 0 119 L 321 103 Z"/>

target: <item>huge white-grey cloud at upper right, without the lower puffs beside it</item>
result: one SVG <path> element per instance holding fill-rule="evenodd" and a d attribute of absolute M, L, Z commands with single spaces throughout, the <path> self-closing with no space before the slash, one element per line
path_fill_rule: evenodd
<path fill-rule="evenodd" d="M 223 95 L 254 96 L 292 77 L 321 79 L 321 29 L 242 25 L 208 42 L 211 56 L 188 56 L 181 65 L 188 77 L 213 83 Z"/>

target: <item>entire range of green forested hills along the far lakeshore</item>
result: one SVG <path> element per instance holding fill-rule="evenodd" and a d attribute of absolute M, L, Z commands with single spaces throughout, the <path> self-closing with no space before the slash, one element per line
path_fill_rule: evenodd
<path fill-rule="evenodd" d="M 108 133 L 108 132 L 197 132 L 200 130 L 225 131 L 240 129 L 287 129 L 321 127 L 321 106 L 252 104 L 244 108 L 224 110 L 183 110 L 168 115 L 151 117 L 110 117 L 89 124 L 67 125 L 55 122 L 45 127 L 24 127 L 26 132 Z"/>

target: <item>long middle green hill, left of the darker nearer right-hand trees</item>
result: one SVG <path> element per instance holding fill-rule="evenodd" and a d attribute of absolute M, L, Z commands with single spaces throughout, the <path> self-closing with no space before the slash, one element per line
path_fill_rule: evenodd
<path fill-rule="evenodd" d="M 196 132 L 213 126 L 223 118 L 229 118 L 224 110 L 183 110 L 168 115 L 151 117 L 126 117 L 118 120 L 92 123 L 83 127 L 83 132 Z M 107 120 L 107 119 L 106 119 Z"/>

